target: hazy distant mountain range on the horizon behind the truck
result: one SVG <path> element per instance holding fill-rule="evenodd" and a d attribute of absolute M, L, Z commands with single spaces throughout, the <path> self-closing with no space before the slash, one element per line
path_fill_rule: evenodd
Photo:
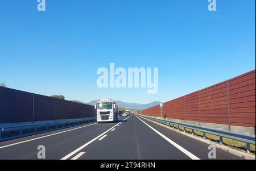
<path fill-rule="evenodd" d="M 79 102 L 79 101 L 76 101 Z M 88 105 L 96 105 L 97 100 L 96 101 L 91 101 L 89 103 L 86 103 Z M 117 104 L 118 107 L 124 108 L 124 109 L 138 109 L 138 110 L 144 110 L 144 109 L 148 109 L 150 107 L 159 105 L 159 101 L 154 101 L 151 103 L 147 103 L 147 104 L 140 104 L 140 103 L 127 103 L 127 102 L 122 102 L 122 101 L 115 101 L 115 103 Z"/>

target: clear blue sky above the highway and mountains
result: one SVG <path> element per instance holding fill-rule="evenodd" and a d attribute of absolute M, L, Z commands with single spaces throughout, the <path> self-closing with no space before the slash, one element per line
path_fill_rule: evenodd
<path fill-rule="evenodd" d="M 0 2 L 0 82 L 89 102 L 168 101 L 255 69 L 255 1 Z M 158 67 L 159 91 L 99 89 L 97 69 Z"/>

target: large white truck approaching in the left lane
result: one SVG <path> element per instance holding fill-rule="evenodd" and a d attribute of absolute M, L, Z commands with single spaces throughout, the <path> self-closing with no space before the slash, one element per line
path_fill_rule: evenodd
<path fill-rule="evenodd" d="M 118 107 L 112 99 L 100 99 L 95 105 L 97 122 L 117 122 Z"/>

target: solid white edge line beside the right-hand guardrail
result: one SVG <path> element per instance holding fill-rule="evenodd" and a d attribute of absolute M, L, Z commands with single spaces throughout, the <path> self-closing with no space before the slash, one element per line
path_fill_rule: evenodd
<path fill-rule="evenodd" d="M 138 118 L 138 116 L 136 116 Z M 175 143 L 174 141 L 172 141 L 171 139 L 169 139 L 167 136 L 163 135 L 162 133 L 160 133 L 158 130 L 156 130 L 155 128 L 151 127 L 149 124 L 147 124 L 146 122 L 144 122 L 141 118 L 138 118 L 139 120 L 141 120 L 144 124 L 146 124 L 148 127 L 150 127 L 153 131 L 155 131 L 158 135 L 162 136 L 165 140 L 167 140 L 169 143 L 171 143 L 172 145 L 174 145 L 174 147 L 176 147 L 177 149 L 179 149 L 181 152 L 183 152 L 185 155 L 187 155 L 188 157 L 190 157 L 193 160 L 200 160 L 198 157 L 196 157 L 195 155 L 193 155 L 191 152 L 187 151 L 187 149 L 181 147 L 179 144 Z"/>

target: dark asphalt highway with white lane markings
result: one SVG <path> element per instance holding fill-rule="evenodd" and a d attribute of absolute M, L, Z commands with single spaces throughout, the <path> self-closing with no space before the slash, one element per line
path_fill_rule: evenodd
<path fill-rule="evenodd" d="M 208 144 L 131 114 L 116 123 L 89 123 L 0 143 L 0 159 L 206 160 Z M 217 148 L 217 159 L 242 159 Z"/>

